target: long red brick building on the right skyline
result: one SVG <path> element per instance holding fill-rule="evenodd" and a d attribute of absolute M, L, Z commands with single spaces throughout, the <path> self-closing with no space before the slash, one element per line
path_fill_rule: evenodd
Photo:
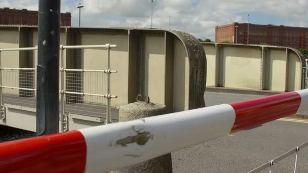
<path fill-rule="evenodd" d="M 232 43 L 237 41 L 237 43 L 247 44 L 247 25 L 247 23 L 232 23 L 216 26 L 215 41 Z M 236 26 L 238 26 L 237 31 Z M 307 34 L 308 28 L 303 27 L 249 23 L 249 44 L 258 45 L 260 42 L 266 42 L 268 45 L 308 49 Z"/>

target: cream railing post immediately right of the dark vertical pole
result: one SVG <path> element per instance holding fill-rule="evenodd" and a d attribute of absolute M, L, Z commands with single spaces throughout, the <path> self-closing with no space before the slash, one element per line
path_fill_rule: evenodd
<path fill-rule="evenodd" d="M 61 131 L 68 131 L 68 116 L 65 114 L 65 67 L 64 67 L 64 49 L 60 45 L 61 50 Z"/>

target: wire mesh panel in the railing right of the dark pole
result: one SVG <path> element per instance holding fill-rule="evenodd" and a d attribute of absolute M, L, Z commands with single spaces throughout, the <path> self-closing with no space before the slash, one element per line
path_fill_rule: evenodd
<path fill-rule="evenodd" d="M 65 84 L 65 111 L 91 116 L 105 116 L 106 79 L 104 72 L 93 71 L 66 71 Z M 91 95 L 87 95 L 91 94 Z M 98 95 L 98 96 L 93 96 Z"/>

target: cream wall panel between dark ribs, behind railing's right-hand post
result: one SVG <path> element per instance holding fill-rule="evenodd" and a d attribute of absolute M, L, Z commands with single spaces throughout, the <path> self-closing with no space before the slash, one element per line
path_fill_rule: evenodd
<path fill-rule="evenodd" d="M 118 70 L 118 73 L 111 74 L 111 93 L 117 95 L 117 99 L 112 100 L 112 105 L 125 105 L 128 103 L 128 35 L 127 34 L 105 34 L 82 32 L 81 45 L 105 45 L 107 43 L 117 45 L 117 48 L 110 51 L 110 67 Z M 84 69 L 105 70 L 107 69 L 106 49 L 84 49 L 82 50 L 82 62 Z M 100 75 L 100 82 L 95 81 Z M 84 92 L 94 94 L 105 94 L 107 78 L 106 74 L 99 73 L 84 77 Z M 91 78 L 92 77 L 92 78 Z M 104 80 L 104 81 L 102 81 Z M 96 84 L 95 84 L 96 83 Z M 104 92 L 102 92 L 104 91 Z M 86 97 L 86 102 L 103 102 L 105 99 Z"/>

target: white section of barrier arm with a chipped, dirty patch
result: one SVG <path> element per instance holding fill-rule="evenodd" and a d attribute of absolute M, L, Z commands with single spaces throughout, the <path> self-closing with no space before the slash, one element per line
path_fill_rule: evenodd
<path fill-rule="evenodd" d="M 85 172 L 106 172 L 227 135 L 235 117 L 232 106 L 223 104 L 81 129 Z"/>

